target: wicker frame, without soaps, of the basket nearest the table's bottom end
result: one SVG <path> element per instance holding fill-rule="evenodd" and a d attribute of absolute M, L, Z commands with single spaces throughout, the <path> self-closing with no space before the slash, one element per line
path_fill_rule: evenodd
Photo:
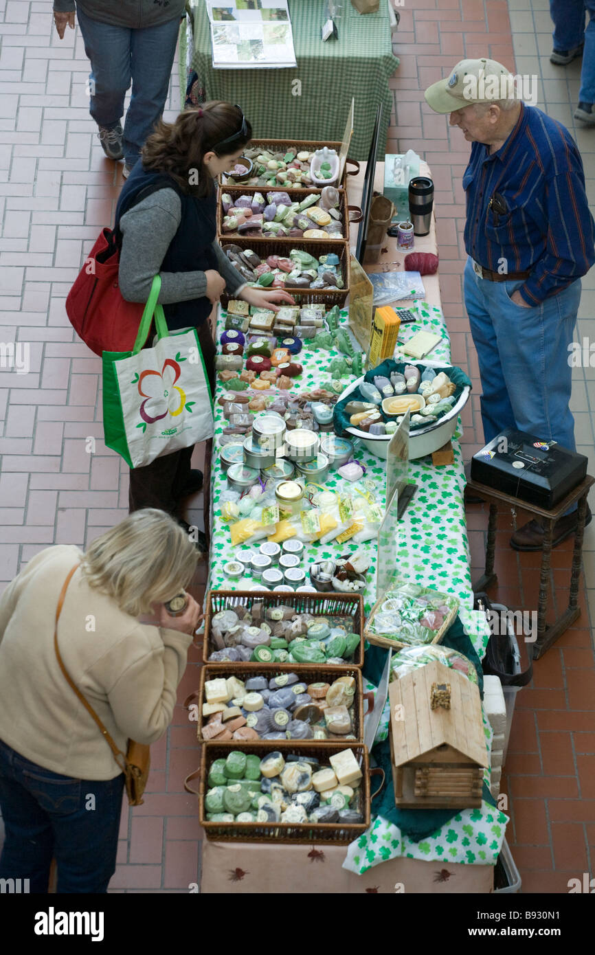
<path fill-rule="evenodd" d="M 226 758 L 231 750 L 238 750 L 242 753 L 254 753 L 263 758 L 269 753 L 281 753 L 286 756 L 288 753 L 302 753 L 305 756 L 312 756 L 319 759 L 321 765 L 329 765 L 329 756 L 335 753 L 350 749 L 360 764 L 362 771 L 361 791 L 362 791 L 362 822 L 212 822 L 206 818 L 204 808 L 204 796 L 208 792 L 208 774 L 212 763 L 216 759 Z M 380 775 L 382 781 L 377 790 L 371 796 L 371 776 Z M 199 779 L 199 789 L 192 788 L 189 783 L 194 779 Z M 270 740 L 257 743 L 236 742 L 235 746 L 227 743 L 204 743 L 202 746 L 201 768 L 195 773 L 191 773 L 184 781 L 184 789 L 187 793 L 192 793 L 199 798 L 199 821 L 204 829 L 204 834 L 208 839 L 215 839 L 217 842 L 278 842 L 278 843 L 304 843 L 311 845 L 313 842 L 327 842 L 335 845 L 347 845 L 354 838 L 361 836 L 370 826 L 370 807 L 371 801 L 382 789 L 384 784 L 384 773 L 380 769 L 370 769 L 370 760 L 368 749 L 361 743 L 348 742 L 346 744 L 313 744 L 311 741 L 302 742 L 287 740 L 283 744 L 282 740 Z"/>

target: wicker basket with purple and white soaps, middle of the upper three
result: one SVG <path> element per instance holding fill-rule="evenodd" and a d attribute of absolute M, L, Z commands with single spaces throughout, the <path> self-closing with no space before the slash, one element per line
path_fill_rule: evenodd
<path fill-rule="evenodd" d="M 249 215 L 245 223 L 245 227 L 247 228 L 250 224 L 252 215 L 258 214 L 260 212 L 261 214 L 265 215 L 265 218 L 267 217 L 270 218 L 269 213 L 273 211 L 273 206 L 274 206 L 274 210 L 275 211 L 277 210 L 277 204 L 273 202 L 273 199 L 275 198 L 275 193 L 287 193 L 287 197 L 289 198 L 290 202 L 311 202 L 311 205 L 316 208 L 318 208 L 318 205 L 322 199 L 322 189 L 314 189 L 314 188 L 310 188 L 308 190 L 290 189 L 290 188 L 282 189 L 280 186 L 262 186 L 260 188 L 251 186 L 249 188 L 245 188 L 240 185 L 226 186 L 224 188 L 220 188 L 219 195 L 218 195 L 218 202 L 217 202 L 217 238 L 219 242 L 221 243 L 225 240 L 232 240 L 235 242 L 237 238 L 240 238 L 240 239 L 246 238 L 246 239 L 250 239 L 252 243 L 256 243 L 256 244 L 260 244 L 262 242 L 267 242 L 267 241 L 268 242 L 274 241 L 274 242 L 280 242 L 281 247 L 283 247 L 284 244 L 287 245 L 289 243 L 291 244 L 291 246 L 293 246 L 301 237 L 298 237 L 296 239 L 295 237 L 291 237 L 288 235 L 287 236 L 272 236 L 272 235 L 266 235 L 266 233 L 263 234 L 262 232 L 257 235 L 248 234 L 246 236 L 243 236 L 243 234 L 238 232 L 237 229 L 230 231 L 229 229 L 225 228 L 225 225 L 224 225 L 225 216 L 231 215 L 231 212 L 228 211 L 227 209 L 228 202 L 231 202 L 231 208 L 236 207 L 236 202 L 238 200 L 240 200 L 241 202 L 246 202 L 246 207 L 243 210 L 240 210 L 240 212 L 244 214 L 245 211 L 249 209 Z M 359 206 L 347 204 L 347 193 L 345 189 L 337 189 L 336 193 L 338 196 L 338 206 L 336 210 L 332 210 L 332 211 L 324 210 L 324 205 L 323 205 L 323 210 L 328 211 L 328 218 L 326 219 L 326 222 L 329 222 L 329 218 L 334 218 L 335 214 L 338 214 L 339 218 L 338 220 L 336 220 L 336 222 L 340 223 L 341 231 L 338 232 L 337 235 L 329 234 L 321 238 L 310 238 L 306 236 L 306 240 L 308 242 L 315 242 L 315 243 L 324 243 L 329 241 L 340 242 L 341 239 L 349 242 L 350 222 L 353 222 L 353 223 L 360 222 L 361 216 L 362 216 L 362 210 L 359 208 Z M 247 199 L 254 201 L 254 197 L 257 194 L 260 194 L 260 196 L 265 200 L 265 205 L 259 205 L 258 202 L 254 202 L 253 204 L 251 203 L 250 205 L 247 205 Z M 223 203 L 223 196 L 228 197 L 224 203 Z M 287 206 L 284 206 L 282 208 L 285 208 L 287 210 Z M 299 215 L 299 214 L 296 213 L 296 215 Z M 304 209 L 303 215 L 308 217 L 308 207 Z M 326 231 L 325 224 L 314 223 L 314 222 L 305 223 L 305 224 L 307 224 L 307 228 L 319 228 Z"/>

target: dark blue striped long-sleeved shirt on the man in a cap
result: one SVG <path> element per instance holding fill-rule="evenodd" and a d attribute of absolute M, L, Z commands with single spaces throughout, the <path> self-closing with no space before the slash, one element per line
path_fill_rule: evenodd
<path fill-rule="evenodd" d="M 595 262 L 581 154 L 542 110 L 521 103 L 515 128 L 492 156 L 474 142 L 463 188 L 467 253 L 495 272 L 530 271 L 519 289 L 528 305 L 562 291 Z M 489 207 L 496 192 L 507 208 L 499 216 Z"/>

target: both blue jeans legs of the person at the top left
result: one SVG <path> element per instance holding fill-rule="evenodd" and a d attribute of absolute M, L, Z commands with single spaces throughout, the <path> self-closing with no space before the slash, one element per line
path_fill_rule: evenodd
<path fill-rule="evenodd" d="M 80 7 L 76 16 L 85 53 L 91 60 L 90 113 L 98 126 L 117 126 L 132 81 L 123 152 L 126 164 L 134 166 L 145 139 L 163 112 L 180 20 L 128 30 L 92 20 Z"/>

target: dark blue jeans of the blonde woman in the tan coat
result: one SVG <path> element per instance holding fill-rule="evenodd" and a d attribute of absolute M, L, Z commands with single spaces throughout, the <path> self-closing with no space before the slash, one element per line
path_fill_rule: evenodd
<path fill-rule="evenodd" d="M 0 879 L 29 879 L 30 892 L 47 893 L 54 857 L 57 892 L 107 892 L 123 785 L 123 774 L 85 780 L 52 773 L 0 740 Z"/>

